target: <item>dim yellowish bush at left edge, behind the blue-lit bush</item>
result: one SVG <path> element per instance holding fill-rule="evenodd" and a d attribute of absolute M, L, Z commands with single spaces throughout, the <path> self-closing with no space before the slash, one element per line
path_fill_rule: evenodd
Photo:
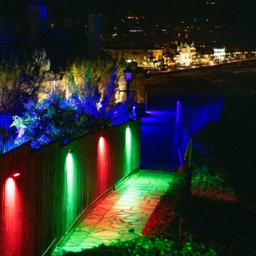
<path fill-rule="evenodd" d="M 23 103 L 37 100 L 50 60 L 45 51 L 35 51 L 19 61 L 12 56 L 0 63 L 0 112 L 19 112 Z"/>

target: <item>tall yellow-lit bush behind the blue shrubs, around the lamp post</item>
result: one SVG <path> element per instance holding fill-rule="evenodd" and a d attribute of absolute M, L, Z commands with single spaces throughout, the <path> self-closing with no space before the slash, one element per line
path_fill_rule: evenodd
<path fill-rule="evenodd" d="M 98 88 L 101 93 L 106 92 L 106 84 L 111 81 L 113 67 L 115 67 L 114 84 L 116 85 L 116 92 L 114 100 L 122 102 L 125 100 L 126 82 L 123 76 L 123 70 L 127 67 L 125 61 L 118 61 L 116 59 L 77 59 L 72 63 L 65 73 L 64 80 L 70 81 L 74 79 L 76 90 L 84 92 L 84 84 L 87 82 L 87 76 L 90 74 L 92 83 Z M 134 91 L 133 100 L 136 103 L 145 103 L 145 87 L 144 87 L 144 71 L 136 65 L 133 65 L 133 80 L 131 81 L 131 91 Z M 73 85 L 74 85 L 73 83 Z M 74 87 L 70 87 L 70 91 L 74 91 Z"/>

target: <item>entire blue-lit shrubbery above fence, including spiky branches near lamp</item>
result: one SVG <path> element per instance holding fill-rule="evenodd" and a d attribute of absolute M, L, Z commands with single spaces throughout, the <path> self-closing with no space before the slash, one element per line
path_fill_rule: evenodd
<path fill-rule="evenodd" d="M 32 147 L 38 149 L 56 140 L 67 142 L 91 131 L 126 122 L 125 104 L 112 100 L 116 89 L 114 80 L 115 70 L 103 95 L 87 80 L 84 92 L 74 92 L 70 98 L 52 94 L 39 103 L 25 103 L 25 113 L 22 117 L 14 116 L 12 123 L 17 128 L 16 144 L 32 140 Z"/>

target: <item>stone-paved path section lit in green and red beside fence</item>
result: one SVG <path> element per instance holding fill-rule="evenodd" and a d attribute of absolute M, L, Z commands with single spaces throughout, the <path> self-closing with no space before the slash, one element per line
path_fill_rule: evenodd
<path fill-rule="evenodd" d="M 162 171 L 135 173 L 92 209 L 65 245 L 56 248 L 52 255 L 138 237 L 160 197 L 173 180 L 173 175 Z"/>

